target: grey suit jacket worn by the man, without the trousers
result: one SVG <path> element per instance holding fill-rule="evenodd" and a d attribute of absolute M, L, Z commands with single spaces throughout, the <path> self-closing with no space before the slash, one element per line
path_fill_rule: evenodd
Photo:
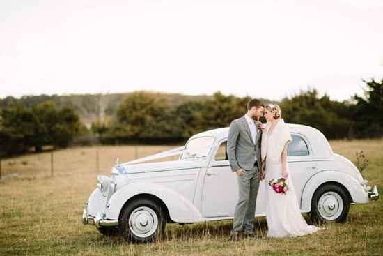
<path fill-rule="evenodd" d="M 251 170 L 257 156 L 258 170 L 260 170 L 260 138 L 262 130 L 257 130 L 256 144 L 251 137 L 249 124 L 244 116 L 230 123 L 228 131 L 227 153 L 230 167 L 233 172 L 242 168 Z"/>

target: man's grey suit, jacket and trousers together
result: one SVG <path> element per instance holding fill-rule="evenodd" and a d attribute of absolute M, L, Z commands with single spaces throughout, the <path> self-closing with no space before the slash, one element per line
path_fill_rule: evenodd
<path fill-rule="evenodd" d="M 228 133 L 227 153 L 233 172 L 239 168 L 245 174 L 238 176 L 239 199 L 235 206 L 233 230 L 240 232 L 244 229 L 246 234 L 253 234 L 253 218 L 256 215 L 256 199 L 260 181 L 260 138 L 261 130 L 256 135 L 254 144 L 247 119 L 242 116 L 230 123 Z M 255 163 L 257 157 L 257 163 Z"/>

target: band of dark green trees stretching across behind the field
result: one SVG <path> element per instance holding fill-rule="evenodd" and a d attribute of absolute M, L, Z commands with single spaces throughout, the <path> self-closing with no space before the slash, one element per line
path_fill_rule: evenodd
<path fill-rule="evenodd" d="M 173 104 L 174 99 L 169 103 L 158 93 L 136 91 L 118 103 L 111 119 L 93 121 L 90 129 L 85 128 L 71 107 L 56 107 L 51 101 L 33 104 L 33 100 L 28 100 L 26 105 L 22 100 L 13 103 L 8 100 L 6 106 L 0 107 L 0 153 L 41 151 L 45 145 L 65 147 L 75 141 L 185 142 L 204 130 L 229 126 L 247 111 L 250 99 L 217 92 L 209 98 Z M 364 95 L 355 94 L 343 102 L 331 100 L 327 94 L 320 96 L 316 89 L 307 89 L 283 98 L 278 104 L 286 122 L 313 126 L 329 139 L 383 135 L 383 80 L 364 81 Z"/>

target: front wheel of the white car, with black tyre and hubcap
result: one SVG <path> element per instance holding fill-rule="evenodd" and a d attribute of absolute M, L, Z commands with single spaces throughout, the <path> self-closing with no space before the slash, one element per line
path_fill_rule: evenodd
<path fill-rule="evenodd" d="M 155 241 L 165 231 L 164 211 L 150 199 L 136 199 L 124 207 L 119 220 L 123 238 L 134 242 Z"/>

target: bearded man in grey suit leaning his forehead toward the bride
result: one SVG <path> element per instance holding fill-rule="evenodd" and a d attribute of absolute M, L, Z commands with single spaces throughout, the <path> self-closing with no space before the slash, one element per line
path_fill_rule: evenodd
<path fill-rule="evenodd" d="M 240 232 L 245 236 L 255 236 L 253 218 L 256 213 L 256 199 L 260 181 L 260 138 L 258 120 L 263 116 L 263 103 L 250 100 L 247 113 L 230 123 L 227 153 L 230 167 L 237 174 L 239 199 L 235 206 L 232 241 L 238 241 Z"/>

